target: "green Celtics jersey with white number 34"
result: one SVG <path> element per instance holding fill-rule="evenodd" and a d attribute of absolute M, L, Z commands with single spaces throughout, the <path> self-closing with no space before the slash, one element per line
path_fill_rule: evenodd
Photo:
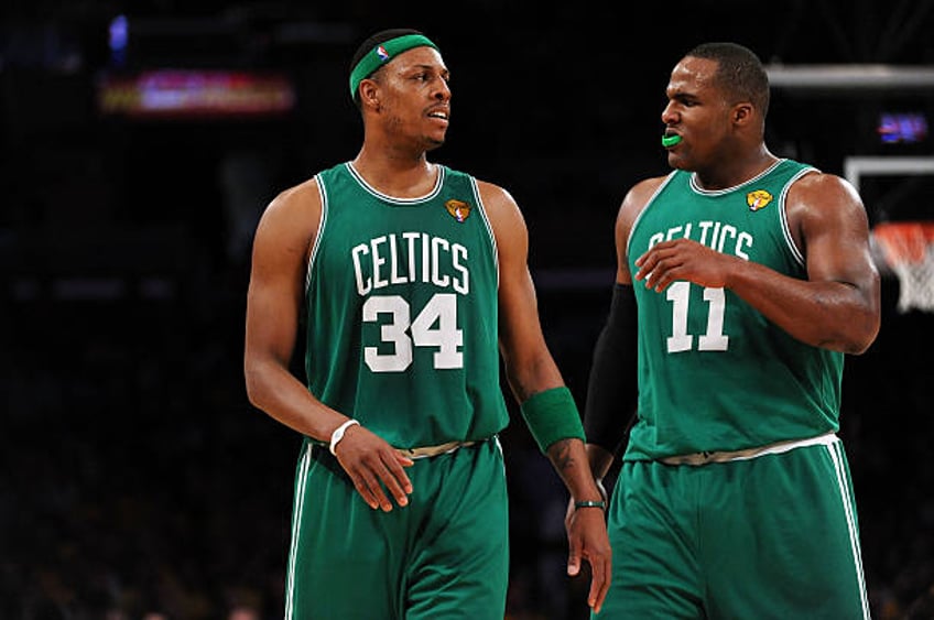
<path fill-rule="evenodd" d="M 484 439 L 509 420 L 492 229 L 476 181 L 438 167 L 435 188 L 412 199 L 349 163 L 316 176 L 308 389 L 399 448 Z"/>

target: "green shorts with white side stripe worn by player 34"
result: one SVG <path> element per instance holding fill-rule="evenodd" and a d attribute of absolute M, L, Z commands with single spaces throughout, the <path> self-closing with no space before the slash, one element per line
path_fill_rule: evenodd
<path fill-rule="evenodd" d="M 287 620 L 502 620 L 509 513 L 498 439 L 415 459 L 404 508 L 373 510 L 326 447 L 295 477 Z"/>

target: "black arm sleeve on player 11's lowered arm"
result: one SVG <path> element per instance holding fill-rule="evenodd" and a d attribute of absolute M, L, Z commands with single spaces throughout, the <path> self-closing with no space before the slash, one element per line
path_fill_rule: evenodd
<path fill-rule="evenodd" d="M 637 348 L 636 294 L 630 285 L 615 284 L 610 314 L 594 347 L 584 409 L 587 442 L 613 456 L 636 421 Z"/>

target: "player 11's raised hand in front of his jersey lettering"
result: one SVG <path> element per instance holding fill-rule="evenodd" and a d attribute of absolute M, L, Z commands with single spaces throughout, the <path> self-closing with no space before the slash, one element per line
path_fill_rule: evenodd
<path fill-rule="evenodd" d="M 649 248 L 636 259 L 636 280 L 644 280 L 647 289 L 656 293 L 678 280 L 694 282 L 708 289 L 726 286 L 728 270 L 741 260 L 717 252 L 691 239 L 672 239 Z"/>

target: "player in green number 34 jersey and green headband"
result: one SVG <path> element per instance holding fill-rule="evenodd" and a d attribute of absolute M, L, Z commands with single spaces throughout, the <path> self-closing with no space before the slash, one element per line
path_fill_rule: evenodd
<path fill-rule="evenodd" d="M 567 572 L 610 570 L 605 504 L 574 400 L 545 345 L 528 232 L 501 187 L 430 162 L 450 121 L 449 72 L 412 30 L 350 66 L 357 156 L 284 191 L 253 241 L 250 401 L 304 435 L 289 619 L 502 620 L 508 499 L 499 355 L 575 511 Z M 289 371 L 305 322 L 307 385 Z"/>

